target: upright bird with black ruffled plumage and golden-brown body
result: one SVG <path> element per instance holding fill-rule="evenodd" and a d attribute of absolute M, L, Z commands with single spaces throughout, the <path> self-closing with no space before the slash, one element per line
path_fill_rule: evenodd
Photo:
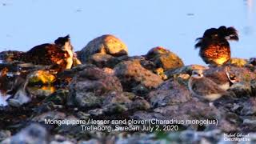
<path fill-rule="evenodd" d="M 234 27 L 220 26 L 205 31 L 202 38 L 197 38 L 195 48 L 200 48 L 199 55 L 206 64 L 221 66 L 230 60 L 228 40 L 238 41 L 238 32 Z"/>

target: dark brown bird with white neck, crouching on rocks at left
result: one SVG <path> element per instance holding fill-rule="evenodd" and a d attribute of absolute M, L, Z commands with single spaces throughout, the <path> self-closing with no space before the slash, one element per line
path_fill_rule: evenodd
<path fill-rule="evenodd" d="M 45 43 L 34 46 L 21 58 L 23 62 L 32 62 L 36 65 L 56 66 L 61 70 L 70 69 L 74 59 L 76 58 L 69 35 L 59 37 L 54 41 L 54 44 Z M 78 64 L 81 64 L 79 60 Z"/>

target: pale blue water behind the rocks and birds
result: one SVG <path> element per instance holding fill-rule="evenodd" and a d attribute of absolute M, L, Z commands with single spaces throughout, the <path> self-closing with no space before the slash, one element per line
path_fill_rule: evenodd
<path fill-rule="evenodd" d="M 102 34 L 126 43 L 130 55 L 165 46 L 187 64 L 203 64 L 195 38 L 210 27 L 234 26 L 232 57 L 256 56 L 254 0 L 0 0 L 0 51 L 30 50 L 70 34 L 75 50 Z"/>

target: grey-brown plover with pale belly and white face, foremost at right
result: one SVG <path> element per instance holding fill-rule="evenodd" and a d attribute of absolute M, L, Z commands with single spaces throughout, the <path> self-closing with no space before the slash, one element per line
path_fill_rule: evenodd
<path fill-rule="evenodd" d="M 204 77 L 202 70 L 194 70 L 189 80 L 190 93 L 203 101 L 213 102 L 224 95 L 229 95 L 218 84 Z"/>

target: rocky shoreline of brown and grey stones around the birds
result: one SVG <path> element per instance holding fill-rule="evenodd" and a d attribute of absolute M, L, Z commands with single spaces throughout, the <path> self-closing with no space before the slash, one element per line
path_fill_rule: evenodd
<path fill-rule="evenodd" d="M 8 95 L 7 90 L 18 85 L 16 92 L 9 95 L 8 105 L 0 106 L 2 143 L 224 143 L 225 138 L 256 142 L 254 58 L 231 58 L 218 67 L 184 66 L 181 58 L 160 46 L 145 55 L 128 56 L 126 45 L 112 35 L 89 42 L 76 52 L 82 64 L 59 73 L 49 66 L 16 61 L 23 53 L 0 53 L 2 94 Z M 190 93 L 188 80 L 193 70 L 221 76 L 226 66 L 238 78 L 227 90 L 232 95 L 209 106 L 209 102 Z M 22 75 L 25 80 L 17 83 Z M 85 126 L 110 126 L 111 130 L 46 124 L 46 119 L 85 120 Z M 102 124 L 91 119 L 133 122 Z M 165 122 L 149 125 L 152 119 Z M 167 120 L 176 122 L 166 124 Z M 186 120 L 195 123 L 182 122 Z M 218 124 L 210 123 L 213 121 Z M 117 125 L 138 129 L 116 130 Z M 149 130 L 153 126 L 154 130 L 143 126 L 149 126 Z"/>

